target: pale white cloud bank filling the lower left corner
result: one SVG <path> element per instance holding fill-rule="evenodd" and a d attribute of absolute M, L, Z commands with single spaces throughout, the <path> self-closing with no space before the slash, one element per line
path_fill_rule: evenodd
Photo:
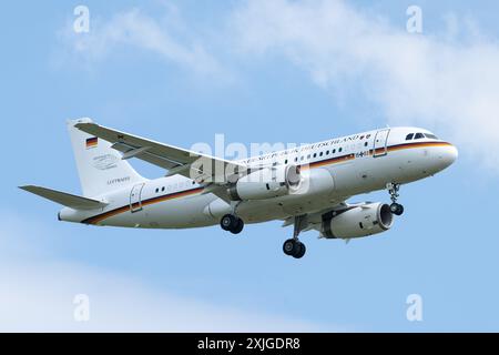
<path fill-rule="evenodd" d="M 0 231 L 1 332 L 312 332 L 320 325 L 213 305 L 139 280 L 58 260 L 37 240 L 53 235 L 6 211 Z M 37 240 L 34 239 L 37 236 Z M 90 321 L 75 322 L 73 300 L 90 297 Z M 333 329 L 334 331 L 334 329 Z"/>

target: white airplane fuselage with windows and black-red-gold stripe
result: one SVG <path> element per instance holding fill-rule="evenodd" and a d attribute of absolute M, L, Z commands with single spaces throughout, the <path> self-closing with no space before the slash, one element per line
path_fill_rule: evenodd
<path fill-rule="evenodd" d="M 416 139 L 416 134 L 422 136 Z M 243 160 L 248 166 L 295 164 L 310 179 L 304 193 L 242 201 L 237 214 L 245 223 L 258 223 L 324 211 L 349 196 L 384 190 L 387 183 L 407 184 L 431 176 L 456 158 L 452 144 L 427 130 L 393 128 Z M 185 229 L 218 224 L 231 213 L 230 203 L 181 175 L 149 180 L 96 200 L 108 205 L 99 211 L 64 207 L 59 219 L 93 225 Z"/>

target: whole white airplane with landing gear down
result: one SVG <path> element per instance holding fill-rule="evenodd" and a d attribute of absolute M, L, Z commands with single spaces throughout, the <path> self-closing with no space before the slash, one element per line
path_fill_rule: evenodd
<path fill-rule="evenodd" d="M 457 149 L 427 130 L 386 128 L 345 138 L 226 161 L 93 123 L 68 121 L 83 196 L 40 186 L 26 191 L 64 206 L 59 221 L 91 225 L 190 229 L 214 224 L 238 234 L 245 223 L 294 225 L 283 245 L 301 258 L 301 232 L 324 239 L 365 237 L 389 230 L 399 187 L 451 165 Z M 142 178 L 136 158 L 167 170 Z M 355 203 L 354 195 L 387 189 L 391 204 Z"/>

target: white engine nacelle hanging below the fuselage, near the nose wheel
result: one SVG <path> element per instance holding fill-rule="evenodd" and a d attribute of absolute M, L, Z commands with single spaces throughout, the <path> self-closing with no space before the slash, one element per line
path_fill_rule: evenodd
<path fill-rule="evenodd" d="M 327 239 L 355 239 L 388 231 L 394 223 L 390 206 L 368 203 L 323 215 L 323 235 Z"/>

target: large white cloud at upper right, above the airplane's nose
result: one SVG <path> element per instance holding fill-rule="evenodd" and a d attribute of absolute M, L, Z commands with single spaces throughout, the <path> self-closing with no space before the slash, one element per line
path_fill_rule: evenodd
<path fill-rule="evenodd" d="M 442 22 L 446 33 L 409 34 L 342 0 L 247 1 L 231 19 L 244 55 L 284 57 L 338 97 L 374 102 L 393 124 L 445 132 L 497 172 L 499 44 L 470 19 Z"/>

